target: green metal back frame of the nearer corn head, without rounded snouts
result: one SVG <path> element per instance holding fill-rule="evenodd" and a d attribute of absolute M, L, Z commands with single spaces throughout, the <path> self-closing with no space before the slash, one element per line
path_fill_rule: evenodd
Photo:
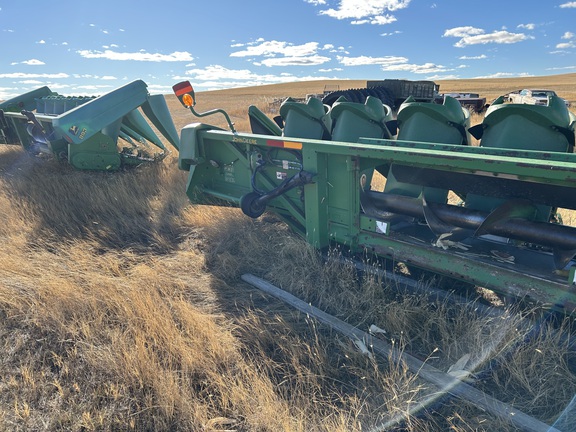
<path fill-rule="evenodd" d="M 256 170 L 258 160 L 272 162 Z M 547 204 L 576 209 L 576 154 L 384 139 L 351 144 L 232 133 L 200 123 L 187 126 L 181 137 L 180 167 L 190 171 L 187 194 L 192 202 L 240 205 L 253 186 L 270 191 L 305 171 L 314 175 L 313 182 L 272 199 L 267 208 L 315 247 L 368 251 L 558 309 L 576 308 L 573 260 L 556 270 L 550 252 L 490 239 L 473 239 L 467 251 L 444 250 L 433 246 L 430 233 L 411 236 L 364 214 L 363 173 L 386 172 L 382 167 L 391 164 L 421 170 L 426 185 L 434 185 L 435 177 L 443 179 L 452 190 L 464 179 L 468 184 L 491 182 L 496 189 L 514 183 L 520 190 L 561 191 L 549 194 Z M 565 228 L 576 236 L 576 228 Z M 512 251 L 516 262 L 496 260 L 493 249 Z"/>

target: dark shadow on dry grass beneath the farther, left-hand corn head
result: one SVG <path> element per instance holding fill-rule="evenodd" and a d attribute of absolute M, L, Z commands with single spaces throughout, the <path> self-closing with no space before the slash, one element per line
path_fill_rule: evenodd
<path fill-rule="evenodd" d="M 4 152 L 0 179 L 30 221 L 31 245 L 90 239 L 105 249 L 164 253 L 180 242 L 184 173 L 167 160 L 117 172 L 79 171 L 52 158 Z"/>

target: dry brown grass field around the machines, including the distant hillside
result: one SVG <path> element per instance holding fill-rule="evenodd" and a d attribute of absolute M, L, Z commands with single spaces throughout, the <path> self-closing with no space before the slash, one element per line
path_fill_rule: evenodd
<path fill-rule="evenodd" d="M 488 100 L 548 87 L 576 104 L 576 74 L 439 83 Z M 224 108 L 247 131 L 249 104 L 266 110 L 325 84 L 202 92 L 197 109 Z M 198 121 L 167 99 L 178 128 Z M 435 388 L 242 283 L 246 272 L 362 329 L 385 328 L 441 370 L 470 354 L 478 388 L 541 421 L 576 393 L 561 337 L 569 318 L 534 328 L 504 307 L 487 316 L 481 300 L 454 308 L 360 280 L 273 216 L 189 204 L 176 154 L 118 173 L 13 146 L 0 156 L 0 430 L 365 431 L 392 418 L 387 430 L 516 430 L 447 396 L 413 412 Z"/>

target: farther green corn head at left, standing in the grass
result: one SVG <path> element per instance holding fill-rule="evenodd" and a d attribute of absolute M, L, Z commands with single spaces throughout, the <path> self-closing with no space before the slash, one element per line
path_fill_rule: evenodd
<path fill-rule="evenodd" d="M 140 80 L 99 97 L 65 97 L 42 87 L 2 102 L 0 143 L 67 159 L 78 169 L 116 170 L 167 154 L 142 113 L 178 148 L 164 96 L 149 95 Z"/>

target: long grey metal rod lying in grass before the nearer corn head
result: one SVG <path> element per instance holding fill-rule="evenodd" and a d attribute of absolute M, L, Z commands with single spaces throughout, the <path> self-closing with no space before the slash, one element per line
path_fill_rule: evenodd
<path fill-rule="evenodd" d="M 280 299 L 299 311 L 308 314 L 318 321 L 329 325 L 339 333 L 355 339 L 370 341 L 374 352 L 391 358 L 393 361 L 403 361 L 408 366 L 409 370 L 420 376 L 422 379 L 438 386 L 442 392 L 451 394 L 457 398 L 471 402 L 477 407 L 480 407 L 492 415 L 504 418 L 510 421 L 515 426 L 527 432 L 560 432 L 538 419 L 530 417 L 527 414 L 511 407 L 504 402 L 501 402 L 486 393 L 463 383 L 462 381 L 412 357 L 406 353 L 400 352 L 398 349 L 392 347 L 386 342 L 371 337 L 368 333 L 330 315 L 326 312 L 306 303 L 303 300 L 293 296 L 292 294 L 281 290 L 280 288 L 272 285 L 270 282 L 261 279 L 252 274 L 242 275 L 242 280 L 250 285 Z"/>

